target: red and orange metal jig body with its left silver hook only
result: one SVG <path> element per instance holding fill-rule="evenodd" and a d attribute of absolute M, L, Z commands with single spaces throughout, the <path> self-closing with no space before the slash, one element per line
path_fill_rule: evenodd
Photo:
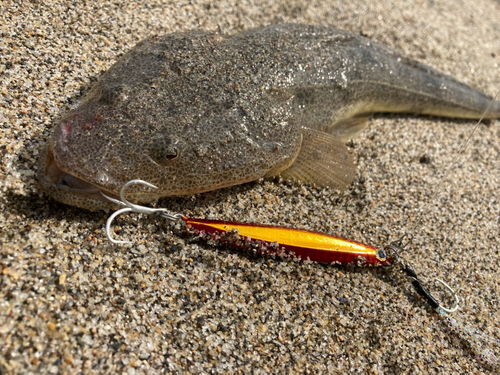
<path fill-rule="evenodd" d="M 384 249 L 325 233 L 277 225 L 188 218 L 182 214 L 171 215 L 164 208 L 135 205 L 124 196 L 125 189 L 132 184 L 142 184 L 154 188 L 154 185 L 148 182 L 132 180 L 121 189 L 121 201 L 103 194 L 107 199 L 124 206 L 113 213 L 106 224 L 106 234 L 113 243 L 129 243 L 111 237 L 110 227 L 114 218 L 125 212 L 137 212 L 149 215 L 156 214 L 172 221 L 184 221 L 188 230 L 202 238 L 215 240 L 221 245 L 229 245 L 237 249 L 254 249 L 260 254 L 321 263 L 348 264 L 357 262 L 366 265 L 390 263 L 390 258 Z"/>

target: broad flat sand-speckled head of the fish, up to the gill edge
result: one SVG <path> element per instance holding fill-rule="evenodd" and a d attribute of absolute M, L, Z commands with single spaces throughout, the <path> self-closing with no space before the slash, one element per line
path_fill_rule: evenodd
<path fill-rule="evenodd" d="M 38 168 L 44 190 L 98 210 L 114 207 L 101 193 L 117 198 L 130 180 L 157 187 L 127 189 L 142 203 L 288 167 L 301 143 L 293 95 L 235 69 L 221 43 L 212 33 L 179 33 L 123 55 L 57 123 Z"/>

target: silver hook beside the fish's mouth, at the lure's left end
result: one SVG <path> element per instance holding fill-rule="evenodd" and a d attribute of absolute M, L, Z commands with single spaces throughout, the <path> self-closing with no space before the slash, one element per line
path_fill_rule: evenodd
<path fill-rule="evenodd" d="M 140 205 L 133 204 L 133 203 L 129 202 L 125 198 L 125 190 L 127 189 L 127 187 L 129 187 L 130 185 L 134 185 L 134 184 L 140 184 L 140 185 L 144 185 L 144 186 L 147 186 L 147 187 L 150 187 L 153 189 L 158 189 L 158 187 L 156 187 L 155 185 L 150 184 L 149 182 L 146 182 L 143 180 L 130 180 L 125 185 L 123 185 L 122 188 L 120 189 L 120 199 L 121 200 L 108 197 L 106 194 L 104 194 L 101 191 L 101 195 L 104 198 L 106 198 L 106 199 L 110 200 L 111 202 L 116 203 L 120 206 L 124 206 L 124 208 L 120 208 L 119 210 L 113 212 L 113 214 L 108 218 L 108 221 L 106 221 L 106 236 L 108 237 L 108 240 L 110 240 L 111 242 L 116 243 L 116 244 L 132 243 L 130 241 L 115 240 L 111 236 L 111 223 L 113 222 L 115 217 L 117 217 L 118 215 L 121 215 L 124 212 L 137 212 L 139 214 L 146 214 L 146 215 L 160 214 L 159 216 L 163 217 L 164 219 L 171 220 L 171 221 L 176 221 L 176 220 L 182 219 L 184 217 L 184 215 L 182 215 L 182 214 L 171 215 L 168 213 L 168 211 L 165 208 L 150 208 L 150 207 L 140 206 Z"/>

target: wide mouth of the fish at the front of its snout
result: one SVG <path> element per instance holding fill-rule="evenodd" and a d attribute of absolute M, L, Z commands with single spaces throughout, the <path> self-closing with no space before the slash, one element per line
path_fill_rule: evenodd
<path fill-rule="evenodd" d="M 62 203 L 91 211 L 116 207 L 102 193 L 113 198 L 116 198 L 116 194 L 82 180 L 61 168 L 55 158 L 52 143 L 40 156 L 37 177 L 43 189 Z"/>

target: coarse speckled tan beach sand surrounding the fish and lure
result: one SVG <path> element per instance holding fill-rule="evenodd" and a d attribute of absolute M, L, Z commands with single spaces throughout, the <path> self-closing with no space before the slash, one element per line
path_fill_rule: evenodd
<path fill-rule="evenodd" d="M 399 267 L 241 254 L 140 215 L 115 222 L 117 235 L 134 245 L 113 245 L 106 213 L 51 200 L 34 173 L 65 108 L 151 34 L 331 25 L 494 95 L 498 20 L 493 0 L 1 2 L 0 372 L 495 371 L 416 295 Z M 459 158 L 473 125 L 375 116 L 349 143 L 359 172 L 343 194 L 271 179 L 159 206 L 376 246 L 411 233 L 405 259 L 433 293 L 441 290 L 435 277 L 459 292 L 454 318 L 498 339 L 500 124 L 479 126 Z"/>

